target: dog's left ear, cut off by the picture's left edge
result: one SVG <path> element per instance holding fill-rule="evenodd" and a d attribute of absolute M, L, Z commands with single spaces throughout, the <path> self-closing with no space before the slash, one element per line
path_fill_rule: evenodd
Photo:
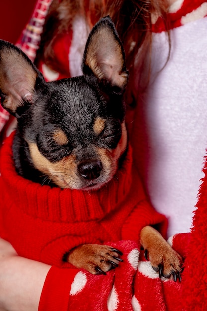
<path fill-rule="evenodd" d="M 34 64 L 19 48 L 0 40 L 0 97 L 6 110 L 15 115 L 25 102 L 32 102 L 39 75 Z"/>

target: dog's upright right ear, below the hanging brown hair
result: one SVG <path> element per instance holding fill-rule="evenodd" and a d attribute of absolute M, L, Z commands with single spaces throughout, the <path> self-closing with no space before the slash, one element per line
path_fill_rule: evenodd
<path fill-rule="evenodd" d="M 83 55 L 84 74 L 93 74 L 100 82 L 124 90 L 128 71 L 123 45 L 112 19 L 102 18 L 91 30 Z"/>

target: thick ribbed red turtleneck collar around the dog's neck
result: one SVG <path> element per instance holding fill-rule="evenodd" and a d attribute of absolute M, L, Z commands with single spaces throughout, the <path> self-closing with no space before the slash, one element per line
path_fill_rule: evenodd
<path fill-rule="evenodd" d="M 24 213 L 49 221 L 75 222 L 99 220 L 113 211 L 128 195 L 132 184 L 132 150 L 128 147 L 126 158 L 114 178 L 100 190 L 83 191 L 41 186 L 16 173 L 12 133 L 1 149 L 0 172 L 2 191 Z"/>

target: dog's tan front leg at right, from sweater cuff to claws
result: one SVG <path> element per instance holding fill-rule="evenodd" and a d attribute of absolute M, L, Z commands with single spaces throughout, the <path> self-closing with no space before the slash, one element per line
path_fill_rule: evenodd
<path fill-rule="evenodd" d="M 182 257 L 172 249 L 156 229 L 151 226 L 144 227 L 140 233 L 140 242 L 153 269 L 159 272 L 159 277 L 169 278 L 173 275 L 174 281 L 177 277 L 181 279 Z"/>

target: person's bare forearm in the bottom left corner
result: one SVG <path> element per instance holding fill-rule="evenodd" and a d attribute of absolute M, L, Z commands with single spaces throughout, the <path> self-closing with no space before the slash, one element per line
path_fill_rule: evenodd
<path fill-rule="evenodd" d="M 50 268 L 17 256 L 13 247 L 0 239 L 0 311 L 38 311 Z"/>

